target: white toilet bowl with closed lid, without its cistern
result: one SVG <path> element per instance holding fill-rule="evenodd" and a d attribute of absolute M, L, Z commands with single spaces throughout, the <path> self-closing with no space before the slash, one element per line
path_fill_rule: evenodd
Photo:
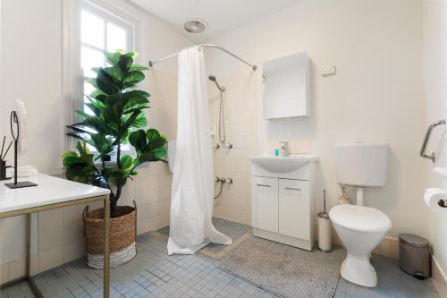
<path fill-rule="evenodd" d="M 342 277 L 357 285 L 377 285 L 369 253 L 391 229 L 390 218 L 377 209 L 355 205 L 338 205 L 329 211 L 329 217 L 348 252 L 342 263 Z"/>

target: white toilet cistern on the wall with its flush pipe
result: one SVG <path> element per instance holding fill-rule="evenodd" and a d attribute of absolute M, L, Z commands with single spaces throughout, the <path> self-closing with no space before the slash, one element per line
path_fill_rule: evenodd
<path fill-rule="evenodd" d="M 386 185 L 388 145 L 385 143 L 344 143 L 335 145 L 337 181 L 357 186 L 357 205 L 363 206 L 367 186 Z"/>

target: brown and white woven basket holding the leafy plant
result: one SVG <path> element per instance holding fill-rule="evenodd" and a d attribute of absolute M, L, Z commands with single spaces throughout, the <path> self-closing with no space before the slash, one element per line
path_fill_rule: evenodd
<path fill-rule="evenodd" d="M 135 201 L 133 202 L 135 205 Z M 109 250 L 110 267 L 115 268 L 132 260 L 137 255 L 137 206 L 118 206 L 119 217 L 110 218 Z M 104 267 L 104 209 L 89 211 L 87 206 L 82 217 L 87 242 L 87 265 L 90 268 Z"/>

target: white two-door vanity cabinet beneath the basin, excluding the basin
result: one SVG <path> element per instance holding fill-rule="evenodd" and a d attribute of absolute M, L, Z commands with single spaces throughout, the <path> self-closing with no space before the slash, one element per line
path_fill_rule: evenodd
<path fill-rule="evenodd" d="M 252 175 L 253 234 L 311 251 L 313 185 L 313 180 Z"/>

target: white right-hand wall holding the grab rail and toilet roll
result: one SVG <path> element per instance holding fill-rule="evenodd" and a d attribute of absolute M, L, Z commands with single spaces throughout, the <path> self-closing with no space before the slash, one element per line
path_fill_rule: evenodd
<path fill-rule="evenodd" d="M 447 88 L 446 41 L 447 41 L 447 5 L 443 1 L 426 0 L 424 2 L 424 82 L 426 98 L 425 125 L 434 121 L 445 119 L 447 115 L 445 101 Z M 445 130 L 438 128 L 438 132 Z M 434 133 L 434 138 L 428 148 L 428 152 L 436 151 L 441 133 Z M 443 146 L 444 153 L 446 146 Z M 441 187 L 447 189 L 447 177 L 435 174 L 432 171 L 432 162 L 426 160 L 425 165 L 426 187 Z M 430 235 L 433 244 L 435 260 L 440 264 L 444 274 L 447 274 L 447 217 L 430 213 Z M 446 285 L 447 286 L 447 285 Z M 445 288 L 447 294 L 447 287 Z"/>

